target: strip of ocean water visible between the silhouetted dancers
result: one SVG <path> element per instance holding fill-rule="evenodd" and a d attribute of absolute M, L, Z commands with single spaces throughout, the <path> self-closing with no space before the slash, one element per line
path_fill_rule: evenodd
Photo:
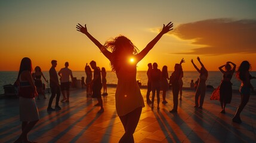
<path fill-rule="evenodd" d="M 44 76 L 49 80 L 48 71 L 43 71 Z M 169 76 L 172 71 L 168 71 Z M 256 76 L 256 71 L 251 71 L 252 76 Z M 4 85 L 13 84 L 17 79 L 18 71 L 0 71 L 0 94 L 4 94 Z M 76 79 L 81 79 L 82 76 L 86 77 L 84 71 L 73 71 L 73 76 Z M 212 85 L 214 88 L 217 88 L 220 85 L 220 81 L 222 79 L 223 74 L 220 71 L 209 71 L 208 80 L 206 81 L 206 85 Z M 189 87 L 190 81 L 193 79 L 194 82 L 198 79 L 199 73 L 198 71 L 184 71 L 183 77 L 183 86 Z M 107 83 L 108 84 L 116 84 L 118 79 L 116 74 L 112 71 L 107 71 Z M 147 71 L 137 71 L 137 80 L 140 80 L 142 85 L 147 85 Z M 44 80 L 42 80 L 45 82 Z M 240 82 L 235 78 L 235 75 L 232 78 L 233 86 L 232 88 L 235 90 L 239 89 Z M 256 86 L 256 79 L 251 80 L 253 86 Z"/>

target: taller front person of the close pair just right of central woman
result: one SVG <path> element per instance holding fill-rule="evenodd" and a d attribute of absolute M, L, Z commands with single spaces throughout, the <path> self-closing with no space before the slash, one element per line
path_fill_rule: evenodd
<path fill-rule="evenodd" d="M 151 71 L 151 89 L 152 89 L 152 105 L 151 107 L 154 108 L 154 101 L 155 95 L 156 100 L 158 102 L 158 109 L 159 109 L 159 102 L 160 102 L 160 88 L 161 88 L 161 70 L 158 69 L 158 64 L 153 63 L 153 69 Z"/>

